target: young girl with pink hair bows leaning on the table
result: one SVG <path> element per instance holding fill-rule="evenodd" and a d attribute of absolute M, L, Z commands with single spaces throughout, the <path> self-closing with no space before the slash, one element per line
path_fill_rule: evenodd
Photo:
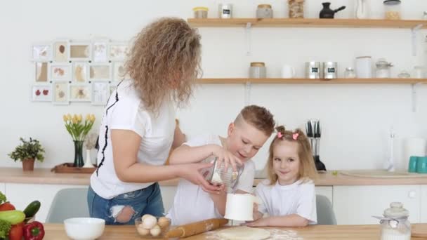
<path fill-rule="evenodd" d="M 312 179 L 317 175 L 310 143 L 300 129 L 276 128 L 268 156 L 268 180 L 256 186 L 262 204 L 254 208 L 249 227 L 305 227 L 316 224 L 316 194 Z M 268 217 L 262 218 L 268 213 Z"/>

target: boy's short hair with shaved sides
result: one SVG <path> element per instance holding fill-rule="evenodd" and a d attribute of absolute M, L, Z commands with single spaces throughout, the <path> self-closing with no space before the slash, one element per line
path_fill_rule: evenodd
<path fill-rule="evenodd" d="M 235 124 L 238 125 L 239 121 L 244 120 L 247 124 L 254 126 L 259 131 L 262 131 L 266 136 L 270 137 L 271 133 L 275 131 L 275 120 L 272 114 L 265 107 L 257 105 L 246 106 L 240 111 L 235 119 Z"/>

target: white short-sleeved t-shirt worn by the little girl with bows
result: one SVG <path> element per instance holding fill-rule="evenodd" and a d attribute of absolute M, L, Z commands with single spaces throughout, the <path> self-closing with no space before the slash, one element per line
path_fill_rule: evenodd
<path fill-rule="evenodd" d="M 298 180 L 291 185 L 268 185 L 269 180 L 263 180 L 255 189 L 263 204 L 259 204 L 258 211 L 270 216 L 284 216 L 298 214 L 309 221 L 317 223 L 316 193 L 312 181 Z"/>

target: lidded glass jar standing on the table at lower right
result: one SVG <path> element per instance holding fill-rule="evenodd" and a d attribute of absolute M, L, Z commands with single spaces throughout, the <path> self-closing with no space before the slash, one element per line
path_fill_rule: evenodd
<path fill-rule="evenodd" d="M 408 220 L 409 211 L 400 202 L 393 202 L 390 208 L 384 210 L 381 218 L 381 240 L 410 240 L 411 223 Z"/>

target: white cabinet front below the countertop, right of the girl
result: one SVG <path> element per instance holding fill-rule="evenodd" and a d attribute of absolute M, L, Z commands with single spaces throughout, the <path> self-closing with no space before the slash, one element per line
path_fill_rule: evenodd
<path fill-rule="evenodd" d="M 402 202 L 410 222 L 421 219 L 421 185 L 334 186 L 333 197 L 339 225 L 376 224 L 372 215 L 382 216 L 393 201 Z"/>

